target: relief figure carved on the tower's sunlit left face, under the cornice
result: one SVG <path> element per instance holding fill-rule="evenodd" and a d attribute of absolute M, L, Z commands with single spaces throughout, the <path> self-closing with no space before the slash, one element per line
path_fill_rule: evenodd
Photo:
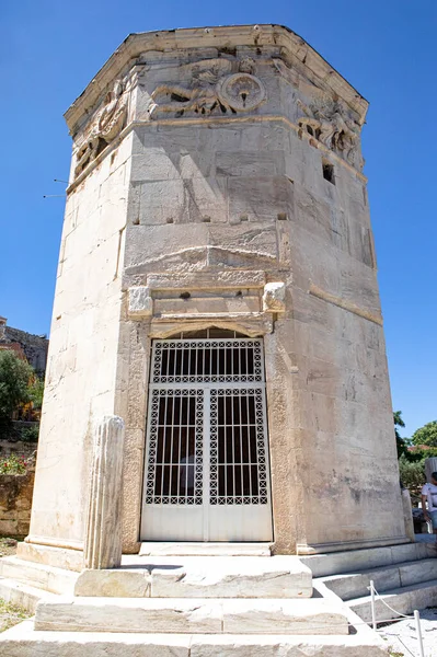
<path fill-rule="evenodd" d="M 127 112 L 127 95 L 124 84 L 116 80 L 112 91 L 108 91 L 103 107 L 96 113 L 91 130 L 85 141 L 78 150 L 74 176 L 77 177 L 99 153 L 119 134 Z"/>

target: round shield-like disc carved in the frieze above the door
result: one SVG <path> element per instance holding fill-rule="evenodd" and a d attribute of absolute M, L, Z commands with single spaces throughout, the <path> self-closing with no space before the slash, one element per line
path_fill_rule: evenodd
<path fill-rule="evenodd" d="M 235 112 L 251 112 L 265 100 L 265 89 L 261 80 L 250 73 L 228 76 L 218 83 L 220 102 Z"/>

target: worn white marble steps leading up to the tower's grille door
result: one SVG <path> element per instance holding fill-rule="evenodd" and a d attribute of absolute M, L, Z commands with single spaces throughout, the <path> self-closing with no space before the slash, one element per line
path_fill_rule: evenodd
<path fill-rule="evenodd" d="M 0 635 L 8 657 L 386 655 L 337 596 L 313 591 L 296 556 L 128 556 L 82 573 L 9 557 L 0 577 L 0 595 L 15 581 L 35 609 Z"/>

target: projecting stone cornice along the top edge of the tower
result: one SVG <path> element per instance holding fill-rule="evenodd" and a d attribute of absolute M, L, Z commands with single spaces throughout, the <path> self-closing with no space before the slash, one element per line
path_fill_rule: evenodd
<path fill-rule="evenodd" d="M 136 59 L 147 53 L 164 53 L 181 49 L 205 49 L 239 46 L 276 46 L 292 62 L 309 69 L 323 85 L 332 89 L 358 115 L 363 125 L 368 107 L 367 101 L 325 61 L 300 36 L 281 25 L 232 25 L 228 27 L 173 30 L 169 32 L 146 32 L 129 35 L 84 92 L 66 112 L 65 117 L 71 132 L 74 132 L 83 115 L 93 112 L 102 94 L 114 80 L 125 74 L 137 64 Z M 250 73 L 248 73 L 250 74 Z"/>

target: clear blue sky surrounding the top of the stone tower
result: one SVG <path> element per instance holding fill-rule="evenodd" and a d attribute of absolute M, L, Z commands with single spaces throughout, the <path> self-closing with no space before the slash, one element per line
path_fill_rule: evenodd
<path fill-rule="evenodd" d="M 279 23 L 370 101 L 365 173 L 394 410 L 436 410 L 436 0 L 3 0 L 0 315 L 48 333 L 70 137 L 64 112 L 131 32 Z"/>

